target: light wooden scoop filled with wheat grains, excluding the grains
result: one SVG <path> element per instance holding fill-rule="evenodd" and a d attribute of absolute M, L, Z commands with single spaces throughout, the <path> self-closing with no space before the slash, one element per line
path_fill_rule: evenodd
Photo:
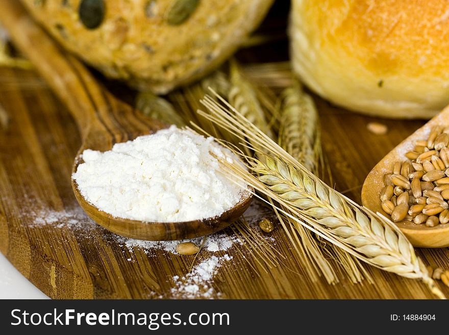
<path fill-rule="evenodd" d="M 394 162 L 406 160 L 405 153 L 413 150 L 417 140 L 427 139 L 433 127 L 444 124 L 449 125 L 449 107 L 446 107 L 441 113 L 402 141 L 369 172 L 362 187 L 362 203 L 364 206 L 389 217 L 382 210 L 379 199 L 380 192 L 384 187 L 384 175 L 391 173 Z M 397 222 L 396 225 L 415 247 L 442 248 L 449 246 L 449 223 L 428 227 L 425 224 L 418 225 L 404 220 Z"/>

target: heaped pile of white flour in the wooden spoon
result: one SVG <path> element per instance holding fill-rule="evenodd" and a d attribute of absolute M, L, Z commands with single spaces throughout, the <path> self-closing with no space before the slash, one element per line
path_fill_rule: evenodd
<path fill-rule="evenodd" d="M 171 126 L 110 151 L 84 150 L 84 163 L 72 178 L 89 203 L 115 217 L 149 222 L 215 217 L 245 191 L 224 176 L 211 152 L 220 158 L 226 152 L 231 160 L 213 138 Z"/>

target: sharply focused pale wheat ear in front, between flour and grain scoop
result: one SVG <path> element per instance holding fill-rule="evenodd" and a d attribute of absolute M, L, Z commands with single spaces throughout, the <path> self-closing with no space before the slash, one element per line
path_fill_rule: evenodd
<path fill-rule="evenodd" d="M 275 200 L 293 215 L 284 214 L 359 260 L 403 277 L 421 279 L 432 293 L 445 298 L 393 222 L 327 186 L 225 100 L 220 101 L 224 106 L 206 96 L 202 103 L 211 113 L 198 113 L 240 137 L 263 157 L 251 159 L 235 151 L 247 162 L 247 168 L 259 175 L 223 162 L 236 179 Z"/>

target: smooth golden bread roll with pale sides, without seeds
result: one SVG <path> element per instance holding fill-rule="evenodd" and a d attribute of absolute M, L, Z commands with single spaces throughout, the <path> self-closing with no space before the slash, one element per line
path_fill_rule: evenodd
<path fill-rule="evenodd" d="M 293 0 L 294 71 L 337 105 L 430 118 L 449 104 L 449 2 Z"/>

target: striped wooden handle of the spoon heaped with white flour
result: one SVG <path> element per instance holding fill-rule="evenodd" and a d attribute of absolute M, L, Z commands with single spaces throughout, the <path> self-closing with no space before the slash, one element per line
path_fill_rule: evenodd
<path fill-rule="evenodd" d="M 155 126 L 154 120 L 112 96 L 89 70 L 30 17 L 20 1 L 0 1 L 0 21 L 15 45 L 29 58 L 77 121 L 85 140 L 89 133 L 107 132 L 114 142 Z"/>

